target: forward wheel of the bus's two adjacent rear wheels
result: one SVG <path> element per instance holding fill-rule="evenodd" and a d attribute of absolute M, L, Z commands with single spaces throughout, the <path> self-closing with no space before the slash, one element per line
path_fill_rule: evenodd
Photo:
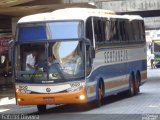
<path fill-rule="evenodd" d="M 128 91 L 128 95 L 129 97 L 134 96 L 135 94 L 135 85 L 134 85 L 134 75 L 131 75 L 131 78 L 129 80 L 129 91 Z"/>

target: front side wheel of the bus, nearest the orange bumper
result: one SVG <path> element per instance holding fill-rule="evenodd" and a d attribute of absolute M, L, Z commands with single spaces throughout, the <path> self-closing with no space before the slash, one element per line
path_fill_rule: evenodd
<path fill-rule="evenodd" d="M 100 107 L 102 105 L 102 100 L 103 100 L 103 87 L 102 83 L 99 83 L 98 91 L 97 91 L 97 100 L 96 100 L 96 107 Z"/>

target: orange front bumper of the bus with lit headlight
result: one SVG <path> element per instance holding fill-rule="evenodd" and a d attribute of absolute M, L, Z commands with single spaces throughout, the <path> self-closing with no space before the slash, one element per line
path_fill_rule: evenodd
<path fill-rule="evenodd" d="M 16 92 L 19 105 L 44 105 L 44 104 L 79 104 L 86 103 L 86 89 L 80 91 L 53 93 L 53 94 L 22 94 Z"/>

